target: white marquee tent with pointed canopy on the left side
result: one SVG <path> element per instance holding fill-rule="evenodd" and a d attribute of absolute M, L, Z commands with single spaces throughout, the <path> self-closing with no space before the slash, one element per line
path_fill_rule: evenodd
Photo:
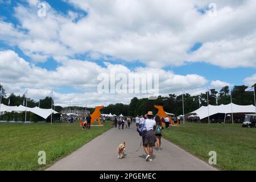
<path fill-rule="evenodd" d="M 6 106 L 4 104 L 1 104 L 1 112 L 24 112 L 26 111 L 26 107 L 20 105 L 20 106 Z M 39 107 L 27 107 L 27 111 L 30 111 L 32 113 L 35 113 L 36 115 L 39 115 L 40 117 L 46 119 L 47 117 L 49 117 L 49 115 L 53 114 L 57 114 L 57 112 L 53 109 L 41 109 Z"/>

